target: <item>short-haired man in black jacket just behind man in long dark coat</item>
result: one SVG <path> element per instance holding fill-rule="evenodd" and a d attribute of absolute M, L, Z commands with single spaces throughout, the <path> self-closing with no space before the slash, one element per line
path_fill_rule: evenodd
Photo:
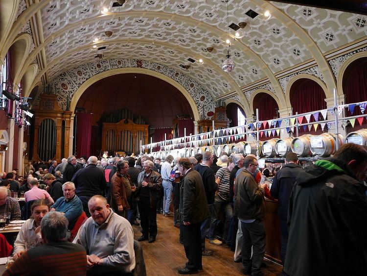
<path fill-rule="evenodd" d="M 212 169 L 210 169 L 210 165 L 213 164 L 213 153 L 211 151 L 204 151 L 203 152 L 203 162 L 197 164 L 194 168 L 195 171 L 198 171 L 201 178 L 203 179 L 205 194 L 206 194 L 206 201 L 208 203 L 210 217 L 203 222 L 201 226 L 201 238 L 202 238 L 202 249 L 203 255 L 209 256 L 213 254 L 213 251 L 205 249 L 205 237 L 209 236 L 209 240 L 211 243 L 215 245 L 221 245 L 222 242 L 217 240 L 214 236 L 214 231 L 210 231 L 211 221 L 215 223 L 215 207 L 214 207 L 214 197 L 215 191 L 217 190 L 217 183 L 215 182 L 215 175 Z M 211 219 L 213 218 L 213 219 Z M 212 236 L 211 236 L 212 234 Z"/>

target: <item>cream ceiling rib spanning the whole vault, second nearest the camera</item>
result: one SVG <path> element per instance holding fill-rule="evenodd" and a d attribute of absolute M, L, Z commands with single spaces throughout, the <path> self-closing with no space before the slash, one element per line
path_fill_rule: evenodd
<path fill-rule="evenodd" d="M 141 13 L 139 12 L 125 12 L 124 14 L 124 17 L 131 17 L 131 16 L 140 16 L 141 17 Z M 212 37 L 214 36 L 213 34 L 217 34 L 218 32 L 223 36 L 223 37 L 226 37 L 226 32 L 216 28 L 216 27 L 212 27 L 210 25 L 207 25 L 206 23 L 202 23 L 202 22 L 198 22 L 196 20 L 193 20 L 193 19 L 190 19 L 190 18 L 187 18 L 187 17 L 184 17 L 184 16 L 179 16 L 179 15 L 170 15 L 170 14 L 164 14 L 164 13 L 157 13 L 157 12 L 145 12 L 144 13 L 144 16 L 159 16 L 160 18 L 164 18 L 164 19 L 167 19 L 167 20 L 172 20 L 172 18 L 176 18 L 176 19 L 179 19 L 180 21 L 184 22 L 190 22 L 192 23 L 192 25 L 197 25 L 197 26 L 203 26 L 205 25 L 206 28 L 210 29 L 211 32 L 212 32 Z M 80 27 L 81 23 L 86 25 L 86 24 L 92 24 L 92 23 L 95 23 L 95 22 L 100 22 L 101 20 L 103 19 L 114 19 L 117 17 L 117 14 L 107 14 L 107 15 L 100 15 L 100 16 L 97 16 L 95 18 L 91 18 L 91 19 L 87 19 L 87 20 L 83 20 L 82 22 L 78 22 L 78 23 L 74 23 L 74 24 L 69 24 L 67 25 L 64 29 L 60 29 L 58 31 L 56 31 L 55 33 L 52 34 L 52 36 L 50 37 L 47 37 L 46 40 L 45 40 L 45 43 L 44 44 L 41 44 L 34 52 L 32 52 L 31 56 L 29 57 L 29 61 L 32 60 L 33 56 L 35 54 L 37 54 L 40 50 L 42 50 L 44 47 L 46 47 L 46 45 L 50 44 L 52 42 L 52 40 L 55 40 L 57 39 L 58 37 L 62 36 L 63 34 L 69 32 L 69 31 L 72 31 L 72 30 L 75 30 L 77 27 Z M 207 30 L 206 30 L 207 32 Z M 214 37 L 218 37 L 218 35 L 215 35 Z M 218 39 L 216 39 L 218 40 Z M 233 47 L 235 47 L 235 45 L 240 45 L 240 43 L 238 41 L 236 41 L 234 44 L 233 44 Z M 205 46 L 205 45 L 203 45 Z M 218 55 L 220 55 L 220 58 L 224 58 L 224 53 L 225 53 L 225 50 L 226 50 L 226 46 L 221 46 L 223 48 L 223 50 L 219 51 L 218 50 Z M 266 75 L 269 77 L 269 79 L 273 82 L 273 86 L 277 87 L 278 84 L 276 83 L 277 80 L 274 76 L 274 74 L 270 71 L 270 69 L 268 68 L 268 66 L 266 65 L 266 63 L 261 60 L 260 57 L 258 57 L 250 48 L 244 46 L 243 44 L 240 45 L 241 49 L 239 50 L 239 52 L 243 51 L 245 52 L 246 54 L 249 55 L 249 59 L 250 59 L 250 63 L 251 63 L 251 59 L 253 60 L 252 62 L 252 67 L 256 67 L 257 69 L 258 68 L 262 68 L 263 71 L 266 73 Z M 245 48 L 245 50 L 243 50 L 243 48 Z M 204 48 L 205 49 L 205 48 Z M 220 58 L 218 58 L 218 60 L 220 61 Z M 235 58 L 235 57 L 234 57 Z M 246 62 L 247 63 L 247 62 Z M 246 64 L 244 63 L 244 64 Z M 238 68 L 240 68 L 240 66 L 238 66 Z M 236 69 L 237 70 L 237 69 Z M 251 70 L 245 70 L 245 71 L 251 71 Z M 257 72 L 257 70 L 256 70 Z M 242 76 L 241 76 L 242 77 Z M 261 76 L 262 77 L 262 76 Z M 248 82 L 252 82 L 252 80 L 250 79 L 250 81 L 248 79 L 245 79 L 243 81 L 243 84 L 245 83 L 248 83 Z M 279 94 L 281 95 L 281 94 Z"/>

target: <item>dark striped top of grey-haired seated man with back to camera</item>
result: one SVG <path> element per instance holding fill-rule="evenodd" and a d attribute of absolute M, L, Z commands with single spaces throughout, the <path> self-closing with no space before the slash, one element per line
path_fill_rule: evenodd
<path fill-rule="evenodd" d="M 3 275 L 85 276 L 86 274 L 85 248 L 68 241 L 58 241 L 26 251 Z"/>

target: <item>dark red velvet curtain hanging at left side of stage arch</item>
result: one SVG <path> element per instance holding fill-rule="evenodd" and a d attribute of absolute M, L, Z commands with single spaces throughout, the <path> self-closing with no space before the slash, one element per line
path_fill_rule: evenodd
<path fill-rule="evenodd" d="M 87 158 L 91 155 L 92 114 L 76 113 L 76 154 Z"/>

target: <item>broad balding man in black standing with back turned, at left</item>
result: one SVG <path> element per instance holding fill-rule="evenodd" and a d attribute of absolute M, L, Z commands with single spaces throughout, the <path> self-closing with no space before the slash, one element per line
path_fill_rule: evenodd
<path fill-rule="evenodd" d="M 97 157 L 89 157 L 87 167 L 77 171 L 71 180 L 75 184 L 76 195 L 82 201 L 83 210 L 88 217 L 91 216 L 88 201 L 92 196 L 103 195 L 107 186 L 104 173 L 97 168 L 97 161 Z"/>

